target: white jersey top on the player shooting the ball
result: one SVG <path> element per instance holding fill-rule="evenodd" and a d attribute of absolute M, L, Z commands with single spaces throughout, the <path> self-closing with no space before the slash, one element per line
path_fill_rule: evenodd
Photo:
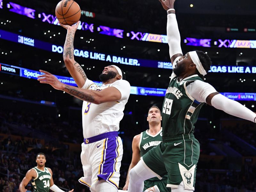
<path fill-rule="evenodd" d="M 131 92 L 129 82 L 126 80 L 117 80 L 112 84 L 98 86 L 93 81 L 87 79 L 82 89 L 101 91 L 111 86 L 121 92 L 120 100 L 101 103 L 99 105 L 87 101 L 83 102 L 82 121 L 84 138 L 119 130 L 119 123 L 124 116 L 124 106 Z"/>

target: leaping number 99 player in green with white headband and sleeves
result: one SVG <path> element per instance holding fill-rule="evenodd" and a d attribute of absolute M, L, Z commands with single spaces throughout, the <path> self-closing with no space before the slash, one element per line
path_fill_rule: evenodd
<path fill-rule="evenodd" d="M 172 192 L 195 190 L 199 143 L 193 133 L 200 108 L 207 103 L 217 109 L 256 123 L 256 114 L 217 92 L 203 81 L 211 60 L 202 51 L 183 56 L 176 20 L 175 0 L 159 0 L 167 11 L 167 41 L 173 72 L 162 108 L 163 142 L 146 153 L 130 171 L 128 192 L 141 192 L 143 180 L 168 173 L 166 187 Z"/>

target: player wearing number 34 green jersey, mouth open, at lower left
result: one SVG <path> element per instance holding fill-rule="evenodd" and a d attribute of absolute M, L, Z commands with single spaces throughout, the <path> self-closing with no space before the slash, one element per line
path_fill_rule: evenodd
<path fill-rule="evenodd" d="M 29 181 L 31 181 L 34 192 L 49 192 L 51 189 L 54 192 L 64 192 L 60 188 L 58 188 L 53 183 L 52 179 L 52 170 L 50 168 L 45 167 L 46 158 L 44 153 L 38 153 L 36 155 L 36 163 L 37 166 L 28 170 L 26 176 L 20 183 L 20 191 L 25 192 L 27 189 L 25 187 L 28 185 Z M 72 189 L 69 192 L 72 192 Z"/>

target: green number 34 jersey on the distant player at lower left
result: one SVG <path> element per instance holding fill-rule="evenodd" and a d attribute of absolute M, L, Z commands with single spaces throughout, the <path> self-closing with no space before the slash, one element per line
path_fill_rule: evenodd
<path fill-rule="evenodd" d="M 31 180 L 35 192 L 49 192 L 50 190 L 50 180 L 52 178 L 51 173 L 45 167 L 44 171 L 38 169 L 37 167 L 33 168 L 36 170 L 36 178 Z"/>

